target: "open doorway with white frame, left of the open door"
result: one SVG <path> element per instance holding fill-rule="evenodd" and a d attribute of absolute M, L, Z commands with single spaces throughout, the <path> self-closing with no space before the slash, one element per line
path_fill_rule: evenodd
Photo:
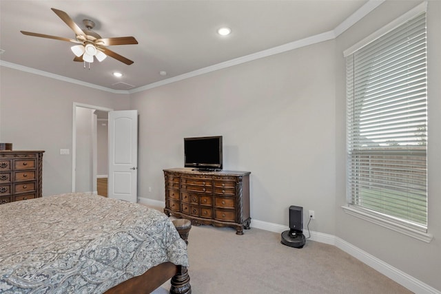
<path fill-rule="evenodd" d="M 103 142 L 103 138 L 99 138 L 99 132 L 102 131 L 99 129 L 105 127 L 103 124 L 108 125 L 103 119 L 107 118 L 107 113 L 112 110 L 82 103 L 73 105 L 72 192 L 98 193 L 98 176 L 100 178 L 107 176 L 108 169 L 103 167 L 103 165 L 107 166 L 107 161 L 102 163 L 102 158 L 107 160 L 107 153 L 103 152 L 103 148 L 107 151 L 107 136 L 101 136 L 105 139 Z M 107 184 L 105 187 L 107 188 Z M 107 194 L 107 191 L 105 193 Z"/>

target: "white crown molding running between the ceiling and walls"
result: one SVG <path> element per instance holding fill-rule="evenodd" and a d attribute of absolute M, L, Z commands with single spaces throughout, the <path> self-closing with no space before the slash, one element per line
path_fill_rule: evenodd
<path fill-rule="evenodd" d="M 170 84 L 170 83 L 175 83 L 177 81 L 183 81 L 183 80 L 185 80 L 187 78 L 192 78 L 194 76 L 200 76 L 202 74 L 207 74 L 209 72 L 214 72 L 216 70 L 222 70 L 224 68 L 232 67 L 234 65 L 239 65 L 239 64 L 242 64 L 242 63 L 247 63 L 249 61 L 254 61 L 256 59 L 261 59 L 261 58 L 264 58 L 264 57 L 267 57 L 267 56 L 276 55 L 276 54 L 280 54 L 280 53 L 287 52 L 287 51 L 290 51 L 290 50 L 302 48 L 302 47 L 305 47 L 305 46 L 308 46 L 308 45 L 313 45 L 313 44 L 316 44 L 316 43 L 320 43 L 320 42 L 336 39 L 337 36 L 340 36 L 340 34 L 342 34 L 347 29 L 349 29 L 352 25 L 354 25 L 355 23 L 360 21 L 360 19 L 365 17 L 372 10 L 376 9 L 384 1 L 385 0 L 369 0 L 369 1 L 367 1 L 367 3 L 365 3 L 364 6 L 362 6 L 356 12 L 351 14 L 351 16 L 349 16 L 347 19 L 345 19 L 345 21 L 342 21 L 342 23 L 340 23 L 340 25 L 338 25 L 336 28 L 334 28 L 334 30 L 330 30 L 328 32 L 324 32 L 322 34 L 316 34 L 314 36 L 309 36 L 309 37 L 307 37 L 305 39 L 300 39 L 298 41 L 293 41 L 293 42 L 290 42 L 290 43 L 286 43 L 284 45 L 276 46 L 274 48 L 269 48 L 267 50 L 263 50 L 263 51 L 256 52 L 256 53 L 253 53 L 253 54 L 241 56 L 241 57 L 238 57 L 236 59 L 232 59 L 232 60 L 229 60 L 229 61 L 225 61 L 223 63 L 218 63 L 218 64 L 211 65 L 211 66 L 208 66 L 208 67 L 204 67 L 204 68 L 201 68 L 199 70 L 194 70 L 192 72 L 187 72 L 187 73 L 181 74 L 179 76 L 174 76 L 172 78 L 167 78 L 167 79 L 165 79 L 163 81 L 158 81 L 158 82 L 151 83 L 151 84 L 148 84 L 148 85 L 144 85 L 144 86 L 141 86 L 141 87 L 136 87 L 135 89 L 131 89 L 131 90 L 114 90 L 114 89 L 111 89 L 111 88 L 108 88 L 108 87 L 102 87 L 102 86 L 99 86 L 99 85 L 94 85 L 92 83 L 86 83 L 86 82 L 83 82 L 83 81 L 79 81 L 79 80 L 76 80 L 74 78 L 68 78 L 68 77 L 65 77 L 65 76 L 60 76 L 58 74 L 51 74 L 50 72 L 44 72 L 42 70 L 35 70 L 34 68 L 31 68 L 31 67 L 25 67 L 23 65 L 17 65 L 17 64 L 14 64 L 14 63 L 8 63 L 6 61 L 0 61 L 0 66 L 10 67 L 10 68 L 13 68 L 15 70 L 21 70 L 23 72 L 30 72 L 32 74 L 39 74 L 41 76 L 46 76 L 48 78 L 54 78 L 54 79 L 57 79 L 59 81 L 65 81 L 65 82 L 68 82 L 68 83 L 74 83 L 76 85 L 82 85 L 84 87 L 91 87 L 91 88 L 94 88 L 96 90 L 101 90 L 101 91 L 110 92 L 110 93 L 114 93 L 114 94 L 132 94 L 132 93 L 136 93 L 136 92 L 142 92 L 142 91 L 145 91 L 145 90 L 150 90 L 150 89 L 153 89 L 155 87 L 161 87 L 163 85 L 167 85 L 167 84 Z"/>

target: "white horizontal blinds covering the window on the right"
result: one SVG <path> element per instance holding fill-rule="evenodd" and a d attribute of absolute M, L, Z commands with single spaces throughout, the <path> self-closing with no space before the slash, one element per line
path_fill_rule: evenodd
<path fill-rule="evenodd" d="M 349 202 L 427 231 L 425 12 L 346 61 Z"/>

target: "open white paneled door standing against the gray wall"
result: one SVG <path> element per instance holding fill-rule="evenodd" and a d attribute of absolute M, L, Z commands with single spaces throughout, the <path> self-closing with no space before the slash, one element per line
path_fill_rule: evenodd
<path fill-rule="evenodd" d="M 109 178 L 107 195 L 137 202 L 138 111 L 109 112 Z"/>

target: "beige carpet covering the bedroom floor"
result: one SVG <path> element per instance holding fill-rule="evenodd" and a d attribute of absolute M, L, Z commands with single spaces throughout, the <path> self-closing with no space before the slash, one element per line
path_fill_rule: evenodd
<path fill-rule="evenodd" d="M 327 244 L 307 240 L 302 249 L 280 244 L 280 234 L 252 228 L 192 227 L 189 275 L 193 294 L 411 293 Z M 156 290 L 167 293 L 170 283 Z"/>

